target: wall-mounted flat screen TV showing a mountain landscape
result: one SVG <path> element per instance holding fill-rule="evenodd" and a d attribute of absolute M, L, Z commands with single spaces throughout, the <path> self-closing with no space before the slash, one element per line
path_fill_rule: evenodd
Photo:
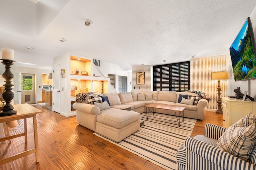
<path fill-rule="evenodd" d="M 230 47 L 235 81 L 256 78 L 255 51 L 252 23 L 248 17 Z"/>

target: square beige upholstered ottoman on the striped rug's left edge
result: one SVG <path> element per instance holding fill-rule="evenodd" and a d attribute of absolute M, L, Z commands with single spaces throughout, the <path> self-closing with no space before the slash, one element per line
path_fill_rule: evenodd
<path fill-rule="evenodd" d="M 140 129 L 140 113 L 110 108 L 102 110 L 96 118 L 96 132 L 120 142 Z"/>

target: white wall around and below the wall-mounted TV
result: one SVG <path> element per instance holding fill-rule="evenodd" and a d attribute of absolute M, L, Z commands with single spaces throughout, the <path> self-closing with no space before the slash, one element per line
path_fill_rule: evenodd
<path fill-rule="evenodd" d="M 254 32 L 254 38 L 256 39 L 256 7 L 254 8 L 254 10 L 252 11 L 252 13 L 250 14 L 250 19 L 252 22 L 252 27 L 253 27 L 253 32 Z M 242 25 L 241 25 L 242 28 Z M 235 37 L 234 37 L 235 39 Z M 227 68 L 229 65 L 232 65 L 231 63 L 231 57 L 230 57 L 230 53 L 229 50 L 227 49 Z M 250 90 L 248 88 L 248 84 L 250 83 Z M 232 77 L 229 77 L 228 81 L 227 81 L 227 94 L 228 95 L 235 95 L 234 93 L 234 89 L 236 89 L 237 87 L 241 88 L 241 92 L 244 93 L 244 91 L 250 91 L 250 95 L 251 97 L 254 98 L 254 100 L 256 101 L 256 79 L 252 79 L 252 80 L 245 80 L 245 81 L 235 81 L 234 80 L 234 76 L 232 75 Z"/>

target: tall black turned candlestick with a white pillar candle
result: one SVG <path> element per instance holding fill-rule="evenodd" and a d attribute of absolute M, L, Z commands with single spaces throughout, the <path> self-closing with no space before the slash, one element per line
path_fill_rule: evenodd
<path fill-rule="evenodd" d="M 5 71 L 2 77 L 5 79 L 5 92 L 2 94 L 3 99 L 6 102 L 2 111 L 0 111 L 0 116 L 10 116 L 16 115 L 17 111 L 13 110 L 14 107 L 11 104 L 12 99 L 14 98 L 14 93 L 12 91 L 12 79 L 14 75 L 11 72 L 11 65 L 13 65 L 14 61 L 14 50 L 8 48 L 2 48 L 2 63 L 5 65 Z"/>

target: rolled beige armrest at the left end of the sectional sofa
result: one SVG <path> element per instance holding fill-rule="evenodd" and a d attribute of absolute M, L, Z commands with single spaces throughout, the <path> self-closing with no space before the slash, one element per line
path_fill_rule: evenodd
<path fill-rule="evenodd" d="M 74 107 L 74 109 L 84 112 L 84 113 L 88 113 L 88 114 L 92 114 L 92 115 L 100 115 L 100 109 L 95 105 L 76 102 L 73 104 L 73 107 Z"/>

